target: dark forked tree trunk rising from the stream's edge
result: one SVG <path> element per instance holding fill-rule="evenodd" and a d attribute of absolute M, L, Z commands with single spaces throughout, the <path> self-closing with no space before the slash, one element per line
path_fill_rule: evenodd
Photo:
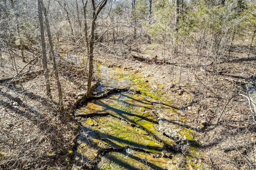
<path fill-rule="evenodd" d="M 92 2 L 92 24 L 91 24 L 91 37 L 89 41 L 89 73 L 88 73 L 88 82 L 87 82 L 87 92 L 86 97 L 91 97 L 91 83 L 92 83 L 92 74 L 93 74 L 93 50 L 94 50 L 94 35 L 95 35 L 95 26 L 96 26 L 96 20 L 100 13 L 100 11 L 104 8 L 108 0 L 102 0 L 99 2 L 98 5 L 96 5 L 94 0 L 91 0 Z M 87 30 L 86 30 L 87 31 Z"/>

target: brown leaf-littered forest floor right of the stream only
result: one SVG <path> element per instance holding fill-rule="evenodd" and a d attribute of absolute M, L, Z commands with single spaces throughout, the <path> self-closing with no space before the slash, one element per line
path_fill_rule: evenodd
<path fill-rule="evenodd" d="M 160 57 L 162 51 L 154 46 L 145 45 L 139 52 Z M 136 45 L 134 49 L 138 51 Z M 184 124 L 200 132 L 200 148 L 210 169 L 255 169 L 256 123 L 248 100 L 242 96 L 234 97 L 220 122 L 216 121 L 232 95 L 248 95 L 244 82 L 249 82 L 249 77 L 255 74 L 256 61 L 218 64 L 213 73 L 213 65 L 207 64 L 214 61 L 213 57 L 196 55 L 196 50 L 189 48 L 185 51 L 188 51 L 185 55 L 175 55 L 175 62 L 180 63 L 175 65 L 138 61 L 130 54 L 122 59 L 109 51 L 98 52 L 95 59 L 104 65 L 135 69 L 155 91 L 160 90 L 173 105 L 181 108 L 182 116 L 187 118 Z M 240 51 L 242 49 L 236 48 L 228 58 L 247 57 L 247 53 Z M 118 56 L 124 55 L 120 51 Z M 170 54 L 165 58 L 173 59 Z"/>

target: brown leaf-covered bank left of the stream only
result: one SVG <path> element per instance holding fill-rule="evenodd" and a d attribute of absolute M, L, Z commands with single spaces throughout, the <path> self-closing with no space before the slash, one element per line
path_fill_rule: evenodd
<path fill-rule="evenodd" d="M 32 57 L 26 54 L 26 60 Z M 0 77 L 17 78 L 16 71 L 26 63 L 7 53 L 1 57 Z M 22 73 L 37 71 L 41 62 L 29 64 Z M 26 79 L 18 84 L 0 84 L 0 169 L 69 169 L 75 142 L 75 128 L 70 109 L 77 85 L 61 76 L 66 111 L 58 107 L 58 92 L 51 78 L 53 101 L 46 97 L 44 76 Z M 71 112 L 72 113 L 72 112 Z"/>

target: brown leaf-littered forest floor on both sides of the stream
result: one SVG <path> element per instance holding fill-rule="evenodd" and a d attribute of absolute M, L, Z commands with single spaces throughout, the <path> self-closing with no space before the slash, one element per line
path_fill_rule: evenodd
<path fill-rule="evenodd" d="M 215 124 L 232 95 L 246 95 L 245 86 L 233 80 L 247 81 L 246 78 L 255 73 L 255 61 L 223 63 L 213 73 L 212 65 L 197 65 L 205 59 L 214 59 L 203 55 L 194 57 L 193 52 L 186 57 L 178 53 L 175 61 L 183 63 L 179 66 L 137 61 L 129 53 L 111 54 L 101 47 L 96 49 L 96 62 L 133 69 L 145 77 L 154 90 L 172 99 L 173 105 L 187 118 L 184 124 L 199 129 L 200 147 L 210 169 L 253 169 L 256 166 L 256 123 L 252 121 L 247 99 L 232 99 L 220 122 Z M 161 51 L 150 50 L 161 56 Z M 245 57 L 245 54 L 233 51 L 232 56 Z M 69 169 L 76 137 L 72 105 L 77 94 L 85 89 L 82 81 L 86 74 L 60 71 L 65 107 L 65 111 L 61 111 L 54 74 L 50 78 L 53 98 L 50 102 L 46 97 L 44 75 L 36 72 L 42 69 L 41 61 L 28 64 L 16 56 L 14 61 L 13 57 L 6 53 L 0 58 L 0 79 L 13 77 L 0 82 L 0 168 Z M 32 54 L 26 54 L 26 61 L 33 58 Z M 185 67 L 186 63 L 190 65 Z M 22 77 L 24 73 L 38 75 L 28 79 Z"/>

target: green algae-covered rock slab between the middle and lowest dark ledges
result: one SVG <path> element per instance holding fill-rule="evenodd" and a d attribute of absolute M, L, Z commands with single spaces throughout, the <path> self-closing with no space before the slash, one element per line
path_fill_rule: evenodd
<path fill-rule="evenodd" d="M 81 123 L 86 125 L 87 120 Z M 126 121 L 114 117 L 94 117 L 92 121 L 98 127 L 82 127 L 83 133 L 78 136 L 78 145 L 74 152 L 75 161 L 78 164 L 86 164 L 87 168 L 92 168 L 98 156 L 110 148 L 120 150 L 124 148 L 143 149 L 152 153 L 160 153 L 163 148 L 162 142 L 154 139 L 154 136 L 146 131 L 132 127 Z"/>

